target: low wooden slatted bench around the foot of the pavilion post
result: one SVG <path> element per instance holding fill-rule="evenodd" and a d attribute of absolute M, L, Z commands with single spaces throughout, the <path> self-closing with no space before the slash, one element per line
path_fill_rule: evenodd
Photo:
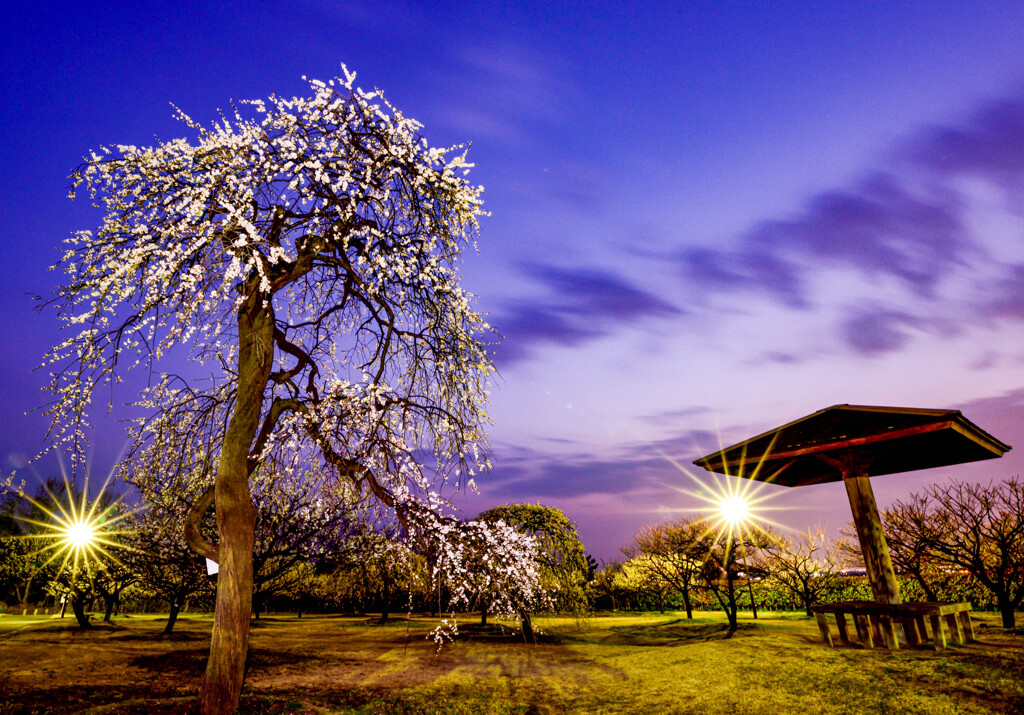
<path fill-rule="evenodd" d="M 874 601 L 841 601 L 839 603 L 822 603 L 812 605 L 811 613 L 818 622 L 821 638 L 829 646 L 833 642 L 831 631 L 825 616 L 831 614 L 839 628 L 839 637 L 844 643 L 852 642 L 847 629 L 846 617 L 850 616 L 857 631 L 857 638 L 865 648 L 874 647 L 874 642 L 884 644 L 887 648 L 899 648 L 899 633 L 897 626 L 903 631 L 903 639 L 908 645 L 923 645 L 929 640 L 926 628 L 931 626 L 931 640 L 936 650 L 946 647 L 946 634 L 942 621 L 945 620 L 949 635 L 956 643 L 975 640 L 974 626 L 971 625 L 970 603 L 876 603 Z"/>

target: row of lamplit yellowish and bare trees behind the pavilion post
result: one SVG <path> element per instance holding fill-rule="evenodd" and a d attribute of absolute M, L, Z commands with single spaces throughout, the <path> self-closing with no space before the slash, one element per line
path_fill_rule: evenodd
<path fill-rule="evenodd" d="M 898 501 L 882 514 L 900 590 L 908 601 L 968 601 L 998 611 L 1006 628 L 1024 601 L 1024 482 L 950 481 Z M 756 521 L 723 529 L 718 519 L 680 517 L 639 531 L 591 584 L 602 608 L 803 609 L 871 600 L 852 524 L 829 538 Z"/>

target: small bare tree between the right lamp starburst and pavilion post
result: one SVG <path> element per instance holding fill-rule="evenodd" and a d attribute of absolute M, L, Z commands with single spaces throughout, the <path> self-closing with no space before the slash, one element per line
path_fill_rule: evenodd
<path fill-rule="evenodd" d="M 812 604 L 840 587 L 843 563 L 839 548 L 828 543 L 821 529 L 808 529 L 795 537 L 771 534 L 763 552 L 771 578 L 800 599 L 808 616 Z"/>

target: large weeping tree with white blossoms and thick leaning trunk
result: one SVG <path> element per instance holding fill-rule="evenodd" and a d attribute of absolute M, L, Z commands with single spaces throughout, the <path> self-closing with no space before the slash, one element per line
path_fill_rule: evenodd
<path fill-rule="evenodd" d="M 145 391 L 131 453 L 157 461 L 173 447 L 167 468 L 210 485 L 193 516 L 215 504 L 217 543 L 186 529 L 220 564 L 204 713 L 231 712 L 242 687 L 262 462 L 323 464 L 442 542 L 455 532 L 438 482 L 487 466 L 489 328 L 457 267 L 482 188 L 465 152 L 430 148 L 418 122 L 343 74 L 209 127 L 179 111 L 195 143 L 102 148 L 72 175 L 72 196 L 87 192 L 103 217 L 59 264 L 51 302 L 71 335 L 47 355 L 52 443 L 81 451 L 90 395 L 124 369 L 186 353 L 207 376 L 165 374 Z M 495 544 L 505 534 L 479 530 Z M 497 550 L 527 591 L 529 546 Z M 443 550 L 458 580 L 465 549 Z"/>

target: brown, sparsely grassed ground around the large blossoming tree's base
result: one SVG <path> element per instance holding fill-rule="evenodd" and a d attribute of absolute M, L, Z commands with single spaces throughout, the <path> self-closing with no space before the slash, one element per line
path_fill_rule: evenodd
<path fill-rule="evenodd" d="M 162 620 L 147 617 L 88 630 L 73 619 L 18 626 L 0 628 L 0 713 L 194 711 L 209 651 L 209 617 L 179 617 L 169 636 L 161 634 Z M 304 703 L 313 693 L 330 712 L 358 711 L 388 693 L 433 682 L 456 661 L 452 646 L 437 651 L 425 637 L 428 630 L 426 622 L 380 626 L 368 618 L 256 621 L 241 712 L 321 712 Z M 510 632 L 478 632 L 469 640 L 522 650 Z M 534 646 L 531 656 L 543 647 Z"/>

